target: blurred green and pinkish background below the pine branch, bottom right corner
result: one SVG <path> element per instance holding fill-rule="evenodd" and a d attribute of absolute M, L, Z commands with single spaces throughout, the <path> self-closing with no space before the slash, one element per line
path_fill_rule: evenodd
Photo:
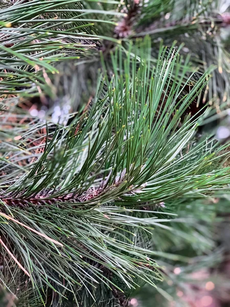
<path fill-rule="evenodd" d="M 130 307 L 230 306 L 230 194 L 216 196 L 181 203 L 180 218 L 154 230 L 152 249 L 173 255 L 158 260 L 166 280 L 136 291 Z"/>

